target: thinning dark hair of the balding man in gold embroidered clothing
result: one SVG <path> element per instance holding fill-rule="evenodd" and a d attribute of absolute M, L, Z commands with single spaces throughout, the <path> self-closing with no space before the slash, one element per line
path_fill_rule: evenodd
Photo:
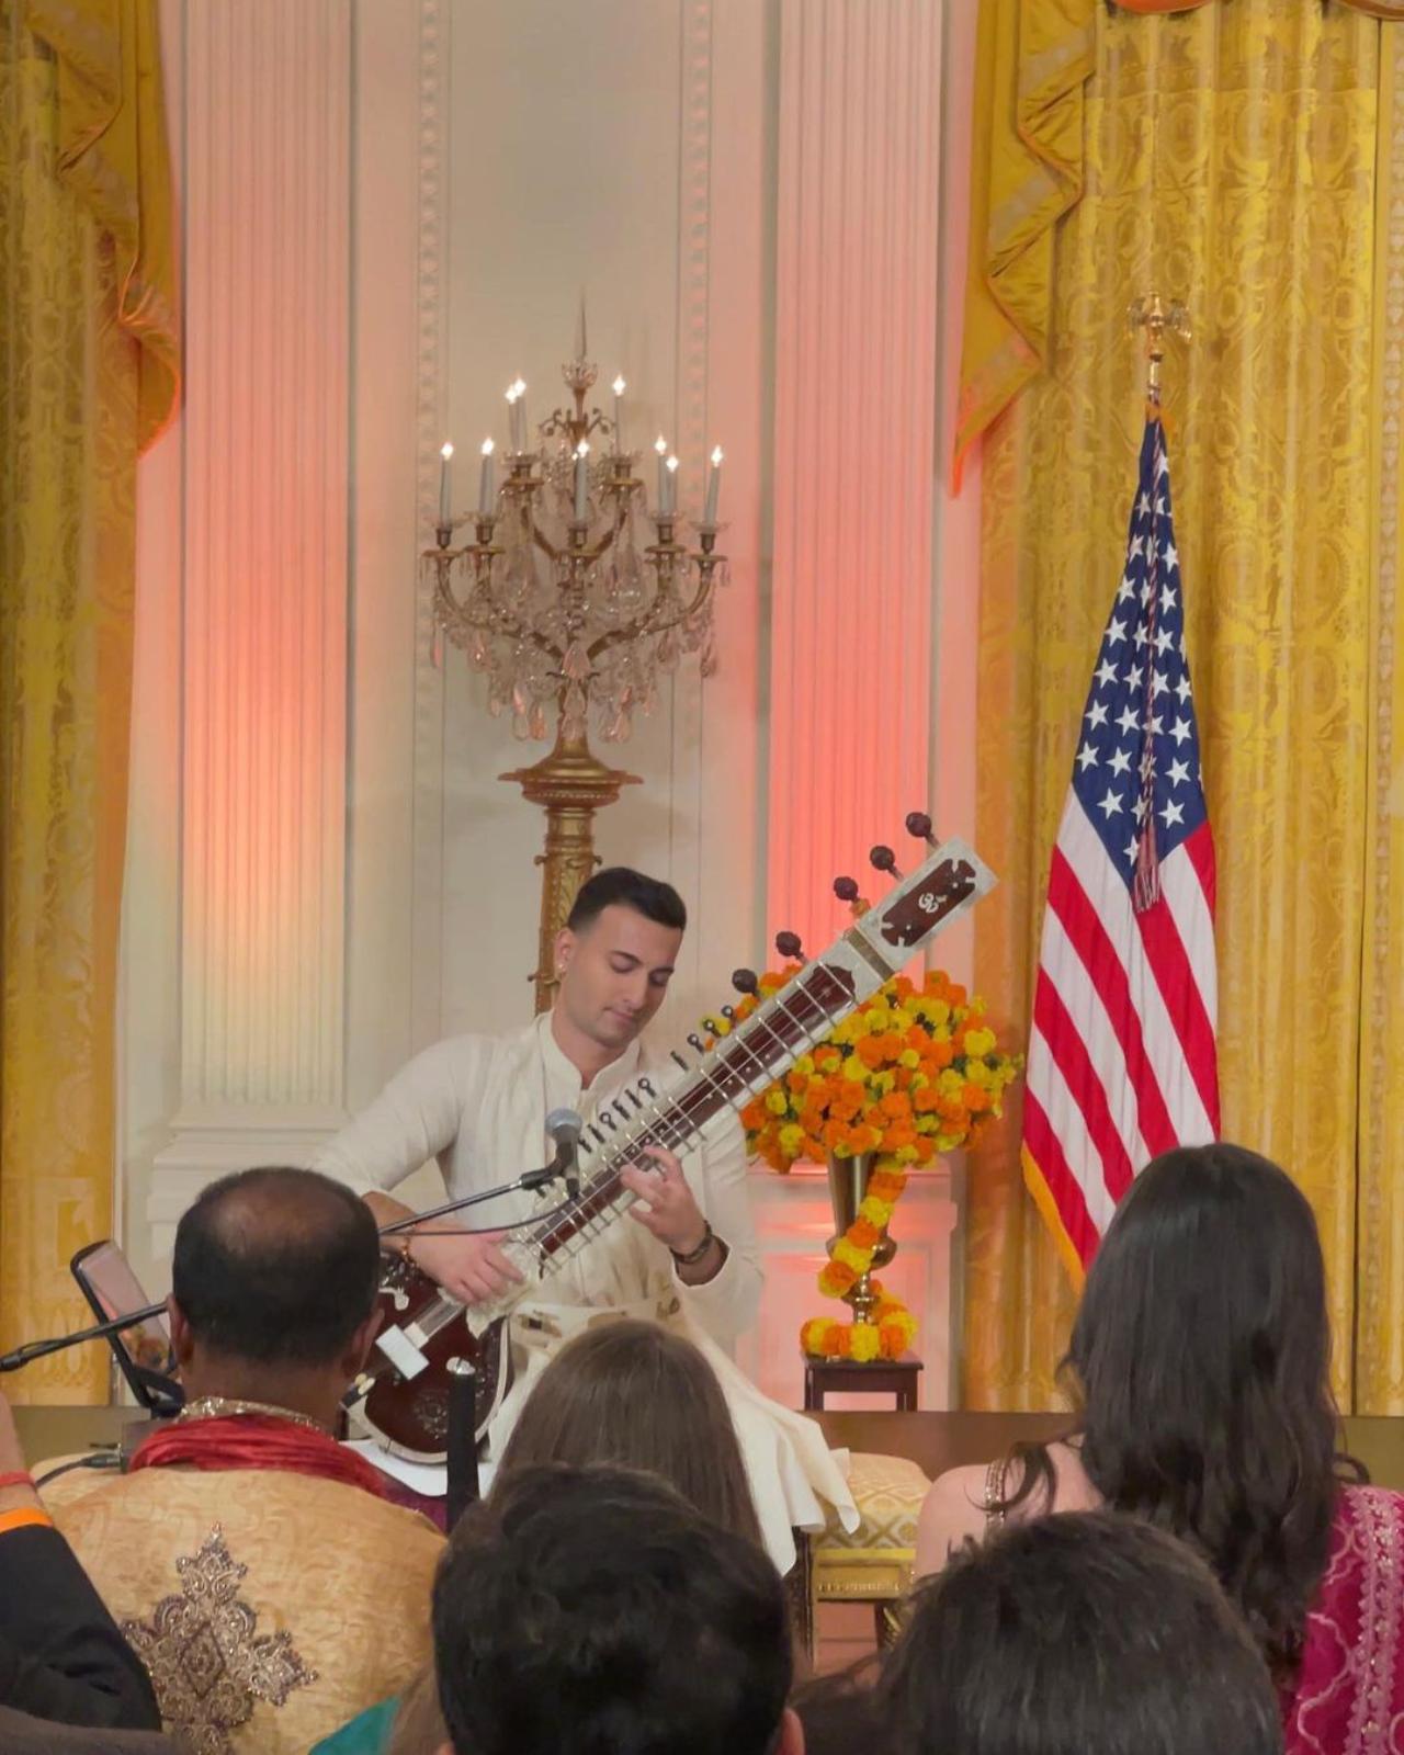
<path fill-rule="evenodd" d="M 176 1227 L 170 1290 L 211 1351 L 263 1365 L 326 1365 L 376 1307 L 370 1207 L 316 1171 L 237 1171 Z"/>

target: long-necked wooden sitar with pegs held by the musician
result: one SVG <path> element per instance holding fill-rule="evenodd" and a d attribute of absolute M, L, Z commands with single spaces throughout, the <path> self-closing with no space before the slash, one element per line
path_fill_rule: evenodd
<path fill-rule="evenodd" d="M 930 839 L 925 818 L 911 818 L 909 827 L 913 823 L 923 823 L 923 839 Z M 711 1046 L 690 1037 L 691 1058 L 674 1051 L 683 1071 L 667 1088 L 658 1088 L 649 1076 L 635 1078 L 595 1114 L 581 1134 L 579 1192 L 502 1243 L 523 1276 L 521 1285 L 484 1304 L 465 1306 L 412 1262 L 398 1255 L 386 1258 L 381 1332 L 372 1360 L 347 1397 L 353 1425 L 367 1429 L 398 1457 L 442 1464 L 449 1372 L 455 1360 L 467 1360 L 476 1372 L 474 1430 L 481 1443 L 511 1386 L 507 1323 L 512 1307 L 628 1211 L 635 1195 L 623 1186 L 620 1172 L 641 1162 L 644 1146 L 684 1153 L 713 1116 L 744 1107 L 995 885 L 993 872 L 962 841 L 944 841 L 909 876 L 897 870 L 886 848 L 874 849 L 874 863 L 897 879 L 883 902 L 858 914 L 821 956 L 802 963 L 730 1034 Z M 856 893 L 851 879 L 841 879 L 835 890 Z"/>

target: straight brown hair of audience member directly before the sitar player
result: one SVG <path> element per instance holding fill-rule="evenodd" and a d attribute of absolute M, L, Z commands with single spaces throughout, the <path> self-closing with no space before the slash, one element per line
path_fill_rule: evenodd
<path fill-rule="evenodd" d="M 760 1541 L 721 1386 L 698 1350 L 658 1323 L 604 1323 L 556 1353 L 498 1474 L 539 1462 L 646 1469 L 714 1523 Z"/>

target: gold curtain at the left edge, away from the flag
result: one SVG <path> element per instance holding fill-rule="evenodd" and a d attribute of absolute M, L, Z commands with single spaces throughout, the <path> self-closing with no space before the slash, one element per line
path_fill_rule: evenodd
<path fill-rule="evenodd" d="M 0 0 L 0 1346 L 112 1221 L 137 455 L 179 335 L 154 0 Z M 11 1379 L 102 1397 L 105 1358 Z"/>

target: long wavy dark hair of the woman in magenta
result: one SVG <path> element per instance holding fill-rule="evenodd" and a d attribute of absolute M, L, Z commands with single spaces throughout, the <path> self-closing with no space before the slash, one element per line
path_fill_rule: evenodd
<path fill-rule="evenodd" d="M 1306 1197 L 1241 1146 L 1157 1158 L 1093 1258 L 1065 1367 L 1100 1497 L 1192 1541 L 1290 1667 L 1327 1564 L 1339 1427 Z"/>

